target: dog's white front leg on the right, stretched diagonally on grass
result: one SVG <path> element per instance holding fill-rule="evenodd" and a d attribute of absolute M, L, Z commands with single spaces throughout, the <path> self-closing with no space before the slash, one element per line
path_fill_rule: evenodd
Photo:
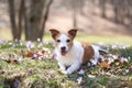
<path fill-rule="evenodd" d="M 80 62 L 76 61 L 66 72 L 65 74 L 73 74 L 75 70 L 77 70 L 80 67 Z"/>

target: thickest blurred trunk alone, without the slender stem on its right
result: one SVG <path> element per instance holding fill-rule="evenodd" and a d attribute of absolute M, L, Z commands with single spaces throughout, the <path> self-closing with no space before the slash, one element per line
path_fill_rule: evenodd
<path fill-rule="evenodd" d="M 43 13 L 45 0 L 31 0 L 30 12 L 26 14 L 28 29 L 25 31 L 26 41 L 36 41 Z"/>

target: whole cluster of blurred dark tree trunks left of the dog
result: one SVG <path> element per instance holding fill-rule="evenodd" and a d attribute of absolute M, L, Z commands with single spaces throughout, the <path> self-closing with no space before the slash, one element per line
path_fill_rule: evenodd
<path fill-rule="evenodd" d="M 23 23 L 26 41 L 42 40 L 53 0 L 30 0 L 30 7 L 26 7 L 25 2 L 26 0 L 20 1 L 19 15 L 16 19 L 15 1 L 8 0 L 13 40 L 21 40 Z"/>

